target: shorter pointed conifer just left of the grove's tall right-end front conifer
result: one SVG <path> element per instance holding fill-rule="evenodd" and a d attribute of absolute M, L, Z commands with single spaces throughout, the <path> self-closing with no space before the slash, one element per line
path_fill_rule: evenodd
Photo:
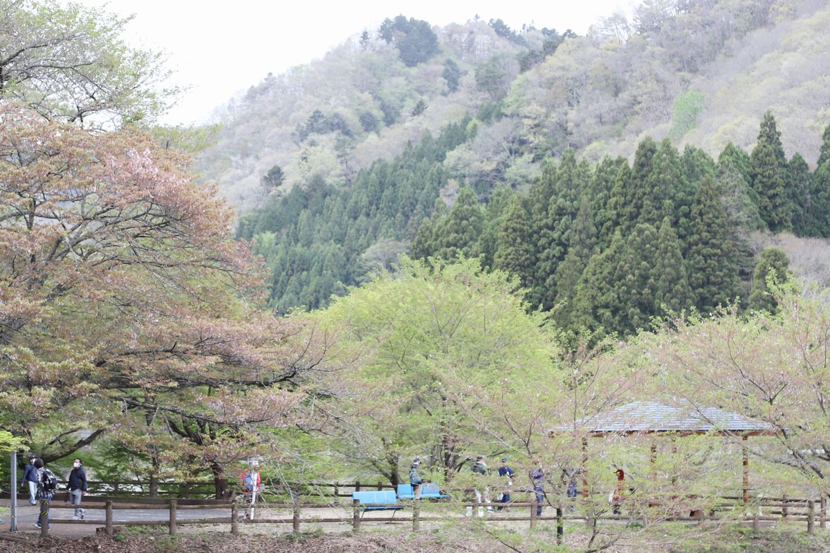
<path fill-rule="evenodd" d="M 681 241 L 671 228 L 668 217 L 663 219 L 657 235 L 657 258 L 653 272 L 657 279 L 654 293 L 655 314 L 661 315 L 666 313 L 666 310 L 681 313 L 695 304 L 686 273 L 686 261 L 681 254 Z"/>

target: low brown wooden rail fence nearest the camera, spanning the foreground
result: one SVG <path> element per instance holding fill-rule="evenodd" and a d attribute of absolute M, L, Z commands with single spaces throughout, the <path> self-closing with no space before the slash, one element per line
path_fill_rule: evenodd
<path fill-rule="evenodd" d="M 358 483 L 355 483 L 358 485 Z M 345 486 L 341 485 L 334 485 L 331 484 L 334 488 L 345 488 Z M 355 486 L 356 487 L 356 486 Z M 126 525 L 140 525 L 140 526 L 168 526 L 168 531 L 171 536 L 176 535 L 178 526 L 185 525 L 185 524 L 227 524 L 230 526 L 230 531 L 232 534 L 236 535 L 239 531 L 240 524 L 291 524 L 293 531 L 300 531 L 300 527 L 302 524 L 320 524 L 320 523 L 344 523 L 349 522 L 352 526 L 354 531 L 359 531 L 361 525 L 366 523 L 376 523 L 376 522 L 391 522 L 391 521 L 402 521 L 402 522 L 410 522 L 412 524 L 413 531 L 417 531 L 420 529 L 420 525 L 422 521 L 452 521 L 453 516 L 447 514 L 447 508 L 442 508 L 443 513 L 438 515 L 436 514 L 427 514 L 426 516 L 422 515 L 421 507 L 422 507 L 423 500 L 406 500 L 403 502 L 398 502 L 395 504 L 360 504 L 357 500 L 354 500 L 351 503 L 351 516 L 349 517 L 315 517 L 311 516 L 310 518 L 303 518 L 303 515 L 308 512 L 315 512 L 320 509 L 326 508 L 330 509 L 333 508 L 330 504 L 325 503 L 279 503 L 279 504 L 270 504 L 268 508 L 270 510 L 289 510 L 291 511 L 291 517 L 276 517 L 276 518 L 258 518 L 255 520 L 248 520 L 245 518 L 245 507 L 240 505 L 237 502 L 221 502 L 221 501 L 197 501 L 197 500 L 189 500 L 189 501 L 180 501 L 177 499 L 168 499 L 168 500 L 149 500 L 145 499 L 142 502 L 117 502 L 113 500 L 107 500 L 104 502 L 95 501 L 95 499 L 91 499 L 91 501 L 84 502 L 83 508 L 90 511 L 95 510 L 103 510 L 105 511 L 105 520 L 71 520 L 71 519 L 60 519 L 54 518 L 49 520 L 49 511 L 50 509 L 54 508 L 67 508 L 67 509 L 74 509 L 78 507 L 77 505 L 73 505 L 67 502 L 41 502 L 41 513 L 44 515 L 44 520 L 49 521 L 51 524 L 84 524 L 84 525 L 96 525 L 102 526 L 105 529 L 107 535 L 112 536 L 115 531 L 115 525 L 118 526 L 126 526 Z M 640 521 L 642 517 L 637 516 L 627 516 L 625 514 L 608 514 L 603 513 L 599 516 L 595 517 L 588 517 L 585 514 L 581 514 L 578 512 L 566 512 L 567 509 L 565 507 L 574 507 L 577 506 L 579 503 L 582 503 L 584 500 L 582 498 L 574 499 L 571 502 L 562 502 L 557 505 L 552 505 L 554 514 L 546 515 L 546 516 L 537 516 L 537 508 L 539 507 L 538 503 L 536 502 L 535 496 L 532 496 L 532 500 L 530 502 L 510 502 L 510 503 L 485 503 L 485 502 L 461 502 L 461 503 L 451 503 L 451 504 L 444 504 L 439 505 L 440 507 L 454 507 L 457 508 L 461 507 L 470 507 L 471 509 L 479 509 L 483 512 L 484 509 L 491 509 L 495 507 L 510 507 L 510 511 L 496 511 L 496 512 L 487 512 L 485 520 L 487 521 L 527 521 L 530 523 L 530 528 L 534 528 L 538 521 L 556 521 L 556 534 L 557 534 L 557 543 L 561 543 L 562 538 L 564 536 L 564 521 L 566 520 L 576 520 L 576 521 L 585 521 L 588 524 L 596 524 L 597 521 Z M 440 503 L 440 502 L 439 502 Z M 661 502 L 657 500 L 650 500 L 648 502 L 649 505 L 659 506 Z M 437 506 L 437 507 L 439 507 Z M 395 508 L 395 509 L 406 509 L 411 512 L 409 517 L 364 517 L 364 513 L 371 512 L 366 511 L 366 507 L 380 507 L 384 509 L 388 508 Z M 526 515 L 522 515 L 517 513 L 517 510 L 521 510 L 523 507 L 529 507 L 529 511 Z M 623 509 L 626 508 L 625 502 L 623 502 Z M 818 507 L 818 508 L 817 508 Z M 335 507 L 336 508 L 336 507 Z M 123 509 L 154 509 L 154 510 L 162 510 L 167 511 L 168 516 L 166 520 L 139 520 L 139 521 L 115 521 L 115 510 L 123 510 Z M 230 510 L 230 517 L 203 517 L 203 518 L 193 518 L 193 519 L 179 519 L 177 514 L 180 510 L 183 509 L 229 509 Z M 675 515 L 670 517 L 662 517 L 661 521 L 692 521 L 697 522 L 699 524 L 704 523 L 707 520 L 723 520 L 723 517 L 719 517 L 718 514 L 720 512 L 725 512 L 728 510 L 736 510 L 740 511 L 740 516 L 735 517 L 734 520 L 741 520 L 741 521 L 751 521 L 754 531 L 759 530 L 760 523 L 762 521 L 803 521 L 806 522 L 807 531 L 809 534 L 815 533 L 815 523 L 818 521 L 818 525 L 822 530 L 827 529 L 827 522 L 828 522 L 828 512 L 827 512 L 827 497 L 824 496 L 821 498 L 818 505 L 812 499 L 795 499 L 789 497 L 764 497 L 764 498 L 756 498 L 753 502 L 749 503 L 749 505 L 745 504 L 742 501 L 741 497 L 723 497 L 722 502 L 714 510 L 706 513 L 703 510 L 696 510 L 695 512 L 691 512 L 690 516 L 681 516 Z M 751 515 L 749 514 L 751 512 Z M 455 515 L 458 517 L 458 514 Z M 46 537 L 49 535 L 49 524 L 41 524 L 41 536 Z"/>

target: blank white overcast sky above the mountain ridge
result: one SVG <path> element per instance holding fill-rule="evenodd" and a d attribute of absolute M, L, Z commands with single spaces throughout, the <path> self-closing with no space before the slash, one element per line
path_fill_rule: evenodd
<path fill-rule="evenodd" d="M 78 1 L 78 0 L 76 0 Z M 237 91 L 269 72 L 279 75 L 325 54 L 364 29 L 374 31 L 386 17 L 403 13 L 433 25 L 463 23 L 478 14 L 522 23 L 572 29 L 583 34 L 598 17 L 630 12 L 634 0 L 80 0 L 106 6 L 122 16 L 135 14 L 128 40 L 168 52 L 174 84 L 191 89 L 164 122 L 189 124 L 207 117 Z"/>

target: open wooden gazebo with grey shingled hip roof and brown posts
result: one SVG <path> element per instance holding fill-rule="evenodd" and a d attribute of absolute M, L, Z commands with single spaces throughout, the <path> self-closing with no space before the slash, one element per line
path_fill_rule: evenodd
<path fill-rule="evenodd" d="M 749 502 L 749 453 L 746 440 L 750 436 L 774 435 L 774 426 L 717 407 L 703 407 L 688 401 L 684 401 L 681 405 L 678 407 L 657 401 L 634 401 L 577 420 L 573 425 L 559 426 L 557 429 L 552 429 L 550 434 L 577 431 L 598 438 L 631 434 L 666 434 L 678 437 L 714 434 L 740 437 L 744 442 L 742 448 L 743 499 L 745 503 Z M 582 448 L 584 463 L 587 462 L 588 455 L 587 438 L 583 438 Z M 656 451 L 656 446 L 652 444 L 652 461 L 656 456 Z M 583 495 L 587 497 L 587 494 L 588 477 L 583 472 Z"/>

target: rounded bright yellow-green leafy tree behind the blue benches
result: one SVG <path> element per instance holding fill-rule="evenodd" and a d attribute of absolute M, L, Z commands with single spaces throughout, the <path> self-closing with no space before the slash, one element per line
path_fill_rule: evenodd
<path fill-rule="evenodd" d="M 445 480 L 468 452 L 494 447 L 486 427 L 500 423 L 468 409 L 471 393 L 526 402 L 527 387 L 552 376 L 555 354 L 516 284 L 476 260 L 430 266 L 402 257 L 398 272 L 315 314 L 321 329 L 348 337 L 332 359 L 352 360 L 327 385 L 339 390 L 326 407 L 334 449 L 397 484 L 403 457 L 428 456 L 425 468 Z"/>

